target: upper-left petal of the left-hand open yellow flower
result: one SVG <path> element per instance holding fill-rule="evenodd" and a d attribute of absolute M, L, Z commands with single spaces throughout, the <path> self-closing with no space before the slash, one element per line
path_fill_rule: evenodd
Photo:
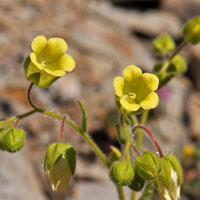
<path fill-rule="evenodd" d="M 47 39 L 43 35 L 39 35 L 34 38 L 34 40 L 31 43 L 32 50 L 39 54 L 47 45 Z"/>

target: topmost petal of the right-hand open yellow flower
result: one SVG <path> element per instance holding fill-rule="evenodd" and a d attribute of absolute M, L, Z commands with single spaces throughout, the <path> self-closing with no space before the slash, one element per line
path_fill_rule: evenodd
<path fill-rule="evenodd" d="M 141 75 L 142 75 L 142 70 L 135 65 L 129 65 L 123 71 L 123 76 L 124 76 L 125 80 L 128 82 L 130 82 L 134 79 L 137 79 Z"/>

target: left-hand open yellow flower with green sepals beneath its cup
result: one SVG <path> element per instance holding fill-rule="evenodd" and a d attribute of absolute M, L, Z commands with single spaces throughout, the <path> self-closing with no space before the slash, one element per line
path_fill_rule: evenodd
<path fill-rule="evenodd" d="M 62 38 L 47 40 L 39 35 L 32 41 L 33 50 L 24 64 L 26 78 L 38 87 L 49 87 L 59 77 L 75 68 L 75 61 L 66 54 L 67 43 Z"/>

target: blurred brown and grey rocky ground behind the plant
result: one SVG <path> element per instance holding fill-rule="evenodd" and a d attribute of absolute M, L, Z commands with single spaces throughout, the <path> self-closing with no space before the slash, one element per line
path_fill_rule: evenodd
<path fill-rule="evenodd" d="M 62 37 L 76 69 L 50 88 L 34 87 L 33 101 L 80 123 L 77 100 L 81 99 L 89 116 L 89 133 L 109 155 L 110 145 L 119 146 L 113 78 L 129 64 L 151 71 L 158 59 L 153 39 L 167 32 L 179 44 L 183 24 L 199 13 L 199 0 L 0 0 L 0 118 L 31 109 L 23 63 L 32 39 L 36 35 Z M 147 127 L 165 154 L 173 152 L 182 161 L 182 200 L 198 200 L 200 45 L 188 45 L 181 54 L 188 61 L 188 71 L 159 91 L 160 103 L 150 113 Z M 25 147 L 15 154 L 0 152 L 1 200 L 117 199 L 108 170 L 67 125 L 64 141 L 78 151 L 76 175 L 66 192 L 51 191 L 43 159 L 47 146 L 58 141 L 60 124 L 40 114 L 20 121 L 26 131 Z M 148 138 L 144 144 L 152 146 Z"/>

